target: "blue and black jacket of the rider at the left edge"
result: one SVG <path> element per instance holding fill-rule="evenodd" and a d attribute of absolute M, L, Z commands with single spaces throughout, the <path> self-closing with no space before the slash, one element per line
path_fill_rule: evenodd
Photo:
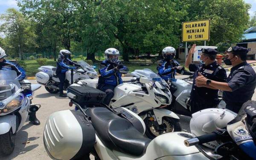
<path fill-rule="evenodd" d="M 15 70 L 17 73 L 17 80 L 19 81 L 22 81 L 26 77 L 25 70 L 13 61 L 6 61 L 4 59 L 0 62 L 0 70 Z"/>

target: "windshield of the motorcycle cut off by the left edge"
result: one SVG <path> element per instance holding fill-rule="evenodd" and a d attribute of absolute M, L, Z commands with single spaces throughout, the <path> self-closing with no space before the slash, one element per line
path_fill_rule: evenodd
<path fill-rule="evenodd" d="M 14 70 L 0 70 L 0 91 L 6 90 L 10 84 L 20 87 L 20 82 L 17 80 L 17 73 Z"/>

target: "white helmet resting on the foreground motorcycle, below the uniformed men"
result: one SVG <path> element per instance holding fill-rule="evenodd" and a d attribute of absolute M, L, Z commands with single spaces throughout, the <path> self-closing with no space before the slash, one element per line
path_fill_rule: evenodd
<path fill-rule="evenodd" d="M 217 129 L 227 127 L 227 123 L 234 119 L 236 115 L 225 109 L 208 108 L 192 114 L 190 120 L 190 131 L 193 137 L 212 133 Z M 215 149 L 219 144 L 216 141 L 204 143 L 203 145 Z"/>

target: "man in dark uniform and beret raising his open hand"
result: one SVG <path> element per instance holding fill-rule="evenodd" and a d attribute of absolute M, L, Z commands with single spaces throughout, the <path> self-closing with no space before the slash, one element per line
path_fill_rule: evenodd
<path fill-rule="evenodd" d="M 214 81 L 224 82 L 227 80 L 226 71 L 215 61 L 216 55 L 218 53 L 215 49 L 201 49 L 201 63 L 192 64 L 192 55 L 195 52 L 195 47 L 196 45 L 194 44 L 189 50 L 189 54 L 185 63 L 186 67 L 188 67 L 191 72 L 194 72 L 193 86 L 190 93 L 191 113 L 195 113 L 206 108 L 215 108 L 219 103 L 218 89 L 215 87 L 209 87 L 209 81 L 207 81 L 205 84 L 196 86 L 196 77 L 203 75 L 207 77 L 207 79 Z"/>

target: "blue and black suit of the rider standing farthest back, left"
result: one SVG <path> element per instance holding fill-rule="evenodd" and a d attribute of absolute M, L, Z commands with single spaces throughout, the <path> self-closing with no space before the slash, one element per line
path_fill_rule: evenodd
<path fill-rule="evenodd" d="M 60 85 L 59 85 L 60 93 L 63 93 L 63 86 L 66 78 L 66 72 L 70 69 L 76 68 L 76 67 L 69 66 L 73 64 L 77 65 L 76 63 L 71 61 L 69 58 L 63 58 L 63 57 L 58 58 L 56 74 L 60 80 Z"/>

